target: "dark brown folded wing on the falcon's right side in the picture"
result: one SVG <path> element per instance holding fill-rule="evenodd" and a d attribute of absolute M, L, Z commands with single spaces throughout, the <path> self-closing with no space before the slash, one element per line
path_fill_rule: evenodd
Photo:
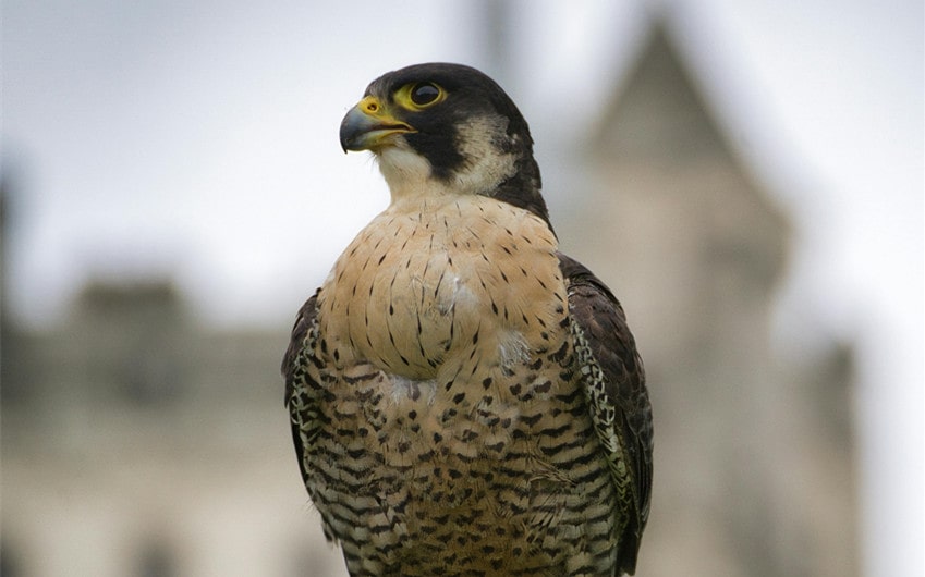
<path fill-rule="evenodd" d="M 560 254 L 585 396 L 620 503 L 618 572 L 633 574 L 652 495 L 652 406 L 626 316 L 587 268 Z M 618 573 L 619 575 L 619 573 Z"/>

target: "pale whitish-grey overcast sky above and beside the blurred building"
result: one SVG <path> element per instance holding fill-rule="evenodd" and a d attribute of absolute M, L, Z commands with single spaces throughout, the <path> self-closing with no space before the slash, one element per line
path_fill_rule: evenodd
<path fill-rule="evenodd" d="M 553 137 L 574 135 L 540 119 L 593 118 L 646 14 L 666 9 L 718 120 L 792 211 L 782 333 L 808 315 L 861 346 L 868 575 L 921 575 L 922 2 L 514 4 L 506 84 L 541 164 Z M 14 316 L 48 326 L 87 279 L 172 275 L 207 322 L 288 323 L 387 202 L 368 158 L 340 150 L 341 116 L 385 71 L 489 65 L 473 13 L 462 1 L 5 0 Z"/>

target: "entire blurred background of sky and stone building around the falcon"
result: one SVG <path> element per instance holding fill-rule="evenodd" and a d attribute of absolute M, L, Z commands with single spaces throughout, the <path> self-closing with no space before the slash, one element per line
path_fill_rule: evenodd
<path fill-rule="evenodd" d="M 475 65 L 656 418 L 637 574 L 923 575 L 923 4 L 2 4 L 0 574 L 334 576 L 278 376 L 388 201 L 338 126 Z"/>

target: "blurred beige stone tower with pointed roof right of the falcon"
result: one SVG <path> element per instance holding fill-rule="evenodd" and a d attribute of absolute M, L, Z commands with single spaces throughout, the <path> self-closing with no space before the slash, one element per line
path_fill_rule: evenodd
<path fill-rule="evenodd" d="M 850 353 L 821 371 L 771 353 L 789 223 L 664 28 L 622 86 L 559 230 L 623 300 L 646 361 L 656 463 L 640 574 L 856 575 L 850 428 L 821 434 L 849 413 Z"/>

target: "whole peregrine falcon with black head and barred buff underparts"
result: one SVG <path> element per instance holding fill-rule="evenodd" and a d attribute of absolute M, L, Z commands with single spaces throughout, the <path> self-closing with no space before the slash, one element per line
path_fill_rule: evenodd
<path fill-rule="evenodd" d="M 343 119 L 391 202 L 295 320 L 302 478 L 353 576 L 633 574 L 652 408 L 622 307 L 559 251 L 526 121 L 475 69 L 374 81 Z"/>

